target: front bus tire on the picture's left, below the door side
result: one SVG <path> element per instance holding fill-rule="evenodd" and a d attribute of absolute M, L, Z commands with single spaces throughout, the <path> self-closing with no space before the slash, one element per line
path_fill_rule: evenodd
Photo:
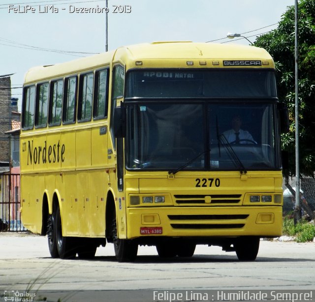
<path fill-rule="evenodd" d="M 138 244 L 130 239 L 118 238 L 115 209 L 113 214 L 112 230 L 116 259 L 119 262 L 133 262 L 137 257 Z"/>

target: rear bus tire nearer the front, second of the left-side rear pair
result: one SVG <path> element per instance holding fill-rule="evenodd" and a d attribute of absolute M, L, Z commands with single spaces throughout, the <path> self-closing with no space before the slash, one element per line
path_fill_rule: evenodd
<path fill-rule="evenodd" d="M 77 253 L 76 244 L 71 237 L 63 237 L 60 207 L 56 209 L 56 242 L 61 259 L 73 259 Z"/>

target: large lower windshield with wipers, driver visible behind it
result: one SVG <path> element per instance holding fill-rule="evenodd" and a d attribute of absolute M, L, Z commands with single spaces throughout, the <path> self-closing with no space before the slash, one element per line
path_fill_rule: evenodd
<path fill-rule="evenodd" d="M 130 170 L 281 168 L 274 102 L 147 100 L 126 108 Z"/>

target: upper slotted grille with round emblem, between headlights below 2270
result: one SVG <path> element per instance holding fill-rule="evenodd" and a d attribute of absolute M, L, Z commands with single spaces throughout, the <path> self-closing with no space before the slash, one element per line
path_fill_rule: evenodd
<path fill-rule="evenodd" d="M 174 195 L 179 205 L 237 205 L 241 203 L 241 194 L 221 195 Z M 206 202 L 206 199 L 210 202 Z"/>

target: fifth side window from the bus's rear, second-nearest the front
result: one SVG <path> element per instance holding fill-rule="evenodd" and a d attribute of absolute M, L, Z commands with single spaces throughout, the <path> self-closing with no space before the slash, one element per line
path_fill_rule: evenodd
<path fill-rule="evenodd" d="M 80 91 L 78 104 L 78 121 L 91 121 L 94 73 L 80 77 Z"/>

